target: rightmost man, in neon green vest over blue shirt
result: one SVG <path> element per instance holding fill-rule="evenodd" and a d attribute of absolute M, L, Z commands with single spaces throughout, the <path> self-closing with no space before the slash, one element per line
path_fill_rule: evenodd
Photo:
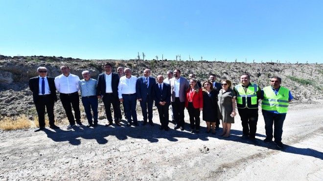
<path fill-rule="evenodd" d="M 293 96 L 291 92 L 282 86 L 280 77 L 272 77 L 270 80 L 271 86 L 265 87 L 261 93 L 261 108 L 262 115 L 265 120 L 266 139 L 265 143 L 272 141 L 278 148 L 283 148 L 281 142 L 282 126 L 288 110 L 288 105 L 292 101 Z M 274 136 L 273 136 L 273 124 L 274 124 Z"/>

